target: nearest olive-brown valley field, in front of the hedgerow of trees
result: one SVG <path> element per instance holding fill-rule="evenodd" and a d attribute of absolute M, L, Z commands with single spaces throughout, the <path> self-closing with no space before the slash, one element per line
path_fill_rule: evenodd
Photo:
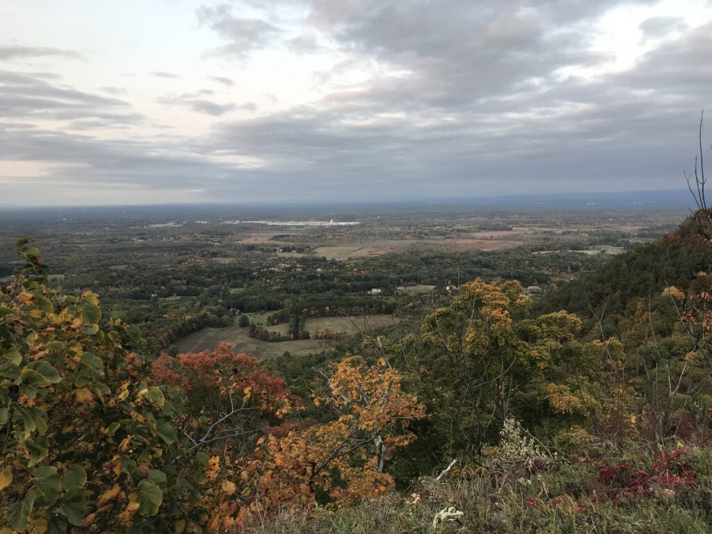
<path fill-rule="evenodd" d="M 212 350 L 220 343 L 229 343 L 238 352 L 260 360 L 281 356 L 285 351 L 293 355 L 319 352 L 334 345 L 334 340 L 293 340 L 268 342 L 250 337 L 248 327 L 203 328 L 174 344 L 179 352 Z"/>

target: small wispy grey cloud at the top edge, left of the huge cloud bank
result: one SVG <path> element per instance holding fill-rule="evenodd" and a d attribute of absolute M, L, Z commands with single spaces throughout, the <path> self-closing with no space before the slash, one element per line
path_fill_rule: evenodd
<path fill-rule="evenodd" d="M 229 4 L 199 6 L 196 16 L 201 26 L 209 26 L 227 44 L 211 51 L 218 56 L 245 58 L 281 34 L 281 30 L 262 19 L 237 17 Z"/>

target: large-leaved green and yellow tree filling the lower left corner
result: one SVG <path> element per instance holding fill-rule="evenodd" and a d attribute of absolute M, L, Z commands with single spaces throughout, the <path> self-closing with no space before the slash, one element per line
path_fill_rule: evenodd
<path fill-rule="evenodd" d="M 127 372 L 138 333 L 122 312 L 48 289 L 31 241 L 18 241 L 26 266 L 0 288 L 0 524 L 165 530 L 197 495 L 177 472 L 174 407 Z"/>

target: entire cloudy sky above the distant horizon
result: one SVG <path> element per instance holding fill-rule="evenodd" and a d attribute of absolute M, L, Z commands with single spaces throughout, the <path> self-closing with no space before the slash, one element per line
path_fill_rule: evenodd
<path fill-rule="evenodd" d="M 712 0 L 0 0 L 0 205 L 682 189 L 711 51 Z"/>

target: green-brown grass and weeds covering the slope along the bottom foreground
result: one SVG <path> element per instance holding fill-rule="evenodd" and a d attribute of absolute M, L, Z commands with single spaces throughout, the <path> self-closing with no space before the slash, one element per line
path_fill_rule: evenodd
<path fill-rule="evenodd" d="M 585 488 L 597 477 L 595 464 L 560 462 L 548 472 L 521 476 L 515 471 L 496 483 L 485 469 L 465 475 L 456 470 L 443 481 L 426 477 L 402 492 L 352 508 L 292 511 L 241 530 L 246 534 L 703 534 L 712 532 L 711 451 L 693 451 L 696 486 L 652 493 L 614 504 L 605 498 L 554 502 L 565 488 Z M 581 499 L 580 499 L 581 501 Z M 460 523 L 433 528 L 439 511 L 454 506 Z"/>

